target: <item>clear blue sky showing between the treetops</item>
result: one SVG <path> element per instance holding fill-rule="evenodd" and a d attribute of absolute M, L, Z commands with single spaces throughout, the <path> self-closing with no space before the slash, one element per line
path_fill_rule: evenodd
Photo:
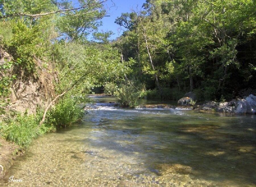
<path fill-rule="evenodd" d="M 72 0 L 74 4 L 77 3 L 77 0 Z M 113 5 L 113 3 L 115 5 Z M 116 39 L 118 37 L 118 28 L 119 25 L 115 24 L 115 19 L 121 16 L 121 13 L 131 12 L 132 9 L 136 10 L 137 7 L 140 10 L 145 0 L 108 0 L 105 4 L 107 7 L 107 15 L 110 17 L 102 18 L 102 26 L 99 28 L 99 31 L 113 31 L 114 35 L 110 37 L 110 40 Z M 124 28 L 122 28 L 124 29 Z M 120 35 L 122 34 L 120 31 Z"/>

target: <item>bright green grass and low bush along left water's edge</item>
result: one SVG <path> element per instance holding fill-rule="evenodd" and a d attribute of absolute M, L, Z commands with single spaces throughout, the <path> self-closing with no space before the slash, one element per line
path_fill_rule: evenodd
<path fill-rule="evenodd" d="M 27 148 L 34 139 L 57 128 L 66 127 L 82 117 L 83 111 L 73 98 L 64 98 L 48 111 L 45 123 L 39 128 L 43 110 L 36 114 L 18 114 L 1 122 L 0 132 L 7 141 L 15 142 L 22 148 Z"/>

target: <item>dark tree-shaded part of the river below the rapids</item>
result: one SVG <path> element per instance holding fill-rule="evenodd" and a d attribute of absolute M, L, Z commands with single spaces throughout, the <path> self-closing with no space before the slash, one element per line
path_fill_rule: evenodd
<path fill-rule="evenodd" d="M 104 131 L 98 141 L 86 141 L 136 155 L 157 175 L 177 172 L 226 185 L 256 184 L 255 116 L 188 111 L 171 117 L 137 115 L 127 121 L 125 115 L 118 121 L 110 115 L 108 123 L 96 127 Z"/>

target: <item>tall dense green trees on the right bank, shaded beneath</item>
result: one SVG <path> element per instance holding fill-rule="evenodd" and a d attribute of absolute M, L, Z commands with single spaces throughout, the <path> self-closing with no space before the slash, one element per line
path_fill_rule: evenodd
<path fill-rule="evenodd" d="M 230 98 L 233 91 L 256 86 L 253 1 L 147 0 L 143 6 L 146 11 L 123 13 L 115 22 L 128 29 L 118 48 L 136 60 L 127 77 L 140 77 L 151 90 L 148 98 L 160 98 L 156 76 L 161 87 L 202 90 L 202 100 Z"/>

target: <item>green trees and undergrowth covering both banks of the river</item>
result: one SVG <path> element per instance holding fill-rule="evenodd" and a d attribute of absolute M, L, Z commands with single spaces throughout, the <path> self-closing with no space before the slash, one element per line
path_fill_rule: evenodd
<path fill-rule="evenodd" d="M 220 101 L 256 89 L 255 1 L 146 0 L 116 18 L 125 31 L 114 41 L 98 32 L 106 1 L 0 0 L 0 51 L 12 56 L 0 64 L 1 114 L 18 80 L 55 76 L 50 102 L 1 122 L 7 140 L 27 146 L 73 123 L 94 88 L 130 107 L 142 97 L 193 91 L 198 101 Z"/>

